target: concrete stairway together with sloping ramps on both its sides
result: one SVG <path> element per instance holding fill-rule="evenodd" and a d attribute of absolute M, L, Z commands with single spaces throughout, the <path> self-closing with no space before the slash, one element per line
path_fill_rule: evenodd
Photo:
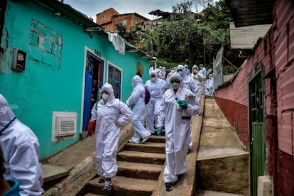
<path fill-rule="evenodd" d="M 132 127 L 121 131 L 119 171 L 108 195 L 249 195 L 249 153 L 244 151 L 232 127 L 214 99 L 202 96 L 200 116 L 192 123 L 193 147 L 187 155 L 185 178 L 166 192 L 163 183 L 165 136 L 151 136 L 145 143 L 127 143 Z M 128 134 L 124 134 L 127 133 Z M 201 135 L 201 136 L 200 136 Z M 47 160 L 67 168 L 44 195 L 107 195 L 94 166 L 94 137 L 87 137 Z M 48 178 L 50 170 L 46 172 Z M 56 182 L 56 180 L 53 180 Z"/>

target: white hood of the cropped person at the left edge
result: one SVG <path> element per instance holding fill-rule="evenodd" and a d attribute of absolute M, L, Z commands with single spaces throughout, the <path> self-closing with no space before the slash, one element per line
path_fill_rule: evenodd
<path fill-rule="evenodd" d="M 0 94 L 0 132 L 9 122 L 14 119 L 15 115 L 9 107 L 9 103 L 5 97 Z"/>

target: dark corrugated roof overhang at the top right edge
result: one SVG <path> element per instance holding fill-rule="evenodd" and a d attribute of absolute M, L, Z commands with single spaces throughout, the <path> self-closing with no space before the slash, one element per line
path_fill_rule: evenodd
<path fill-rule="evenodd" d="M 226 0 L 236 27 L 273 23 L 275 0 Z"/>

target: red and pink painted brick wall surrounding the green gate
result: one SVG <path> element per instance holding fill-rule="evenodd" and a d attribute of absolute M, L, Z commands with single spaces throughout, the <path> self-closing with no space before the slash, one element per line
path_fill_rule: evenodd
<path fill-rule="evenodd" d="M 216 101 L 249 146 L 248 81 L 262 63 L 266 174 L 273 180 L 274 195 L 290 196 L 294 195 L 294 1 L 276 1 L 273 18 L 272 28 L 235 80 L 217 89 Z M 227 99 L 228 91 L 233 92 L 232 99 Z"/>

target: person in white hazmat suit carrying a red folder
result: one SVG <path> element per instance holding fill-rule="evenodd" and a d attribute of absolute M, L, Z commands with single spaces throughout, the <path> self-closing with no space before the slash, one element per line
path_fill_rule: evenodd
<path fill-rule="evenodd" d="M 94 104 L 91 120 L 96 120 L 95 163 L 99 183 L 104 183 L 103 190 L 111 190 L 111 178 L 117 173 L 116 153 L 119 146 L 119 131 L 131 121 L 131 109 L 114 97 L 114 89 L 109 83 L 102 86 L 102 99 Z"/>

